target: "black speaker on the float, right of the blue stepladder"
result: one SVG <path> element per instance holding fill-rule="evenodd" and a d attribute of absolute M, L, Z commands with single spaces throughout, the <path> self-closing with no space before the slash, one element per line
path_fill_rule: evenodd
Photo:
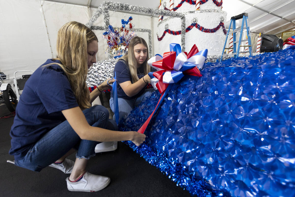
<path fill-rule="evenodd" d="M 261 35 L 261 44 L 260 44 L 260 53 L 262 52 L 276 52 L 282 50 L 283 40 L 276 37 L 275 35 L 262 34 Z"/>

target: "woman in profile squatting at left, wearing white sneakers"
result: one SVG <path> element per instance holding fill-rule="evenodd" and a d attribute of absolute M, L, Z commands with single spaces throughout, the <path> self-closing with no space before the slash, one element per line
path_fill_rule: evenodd
<path fill-rule="evenodd" d="M 37 172 L 51 166 L 71 174 L 66 179 L 70 191 L 99 191 L 109 184 L 110 178 L 86 171 L 96 144 L 131 140 L 139 146 L 145 141 L 144 134 L 116 131 L 103 106 L 91 107 L 101 91 L 110 88 L 105 81 L 89 94 L 86 86 L 97 51 L 98 39 L 88 27 L 78 22 L 63 25 L 57 58 L 48 59 L 27 80 L 10 131 L 9 154 L 15 165 Z M 66 159 L 74 152 L 75 162 Z"/>

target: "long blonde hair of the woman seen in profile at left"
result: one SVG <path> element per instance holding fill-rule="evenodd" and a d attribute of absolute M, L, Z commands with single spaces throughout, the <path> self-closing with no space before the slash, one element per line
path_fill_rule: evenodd
<path fill-rule="evenodd" d="M 87 45 L 93 40 L 98 42 L 96 35 L 88 27 L 79 22 L 68 22 L 58 30 L 57 58 L 53 59 L 61 62 L 58 65 L 68 76 L 78 105 L 82 109 L 91 107 L 86 77 Z"/>

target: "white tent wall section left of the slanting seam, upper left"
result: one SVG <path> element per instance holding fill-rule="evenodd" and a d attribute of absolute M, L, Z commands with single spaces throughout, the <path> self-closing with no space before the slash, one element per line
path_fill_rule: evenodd
<path fill-rule="evenodd" d="M 15 71 L 35 70 L 51 57 L 40 5 L 34 0 L 0 1 L 0 67 L 9 74 L 6 83 L 13 84 Z"/>

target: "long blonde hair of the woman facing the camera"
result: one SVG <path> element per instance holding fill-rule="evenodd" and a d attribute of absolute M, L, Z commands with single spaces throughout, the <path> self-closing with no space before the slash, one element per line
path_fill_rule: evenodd
<path fill-rule="evenodd" d="M 137 62 L 136 62 L 134 51 L 133 51 L 134 46 L 137 44 L 143 44 L 147 48 L 147 58 L 142 63 L 142 66 L 144 68 L 144 74 L 145 75 L 148 74 L 151 71 L 151 67 L 148 65 L 148 59 L 149 59 L 148 45 L 143 38 L 140 38 L 138 36 L 133 37 L 129 43 L 128 54 L 125 54 L 124 56 L 122 56 L 118 60 L 118 61 L 124 60 L 127 63 L 128 68 L 131 73 L 133 83 L 135 83 L 139 80 L 139 78 L 137 76 Z"/>

